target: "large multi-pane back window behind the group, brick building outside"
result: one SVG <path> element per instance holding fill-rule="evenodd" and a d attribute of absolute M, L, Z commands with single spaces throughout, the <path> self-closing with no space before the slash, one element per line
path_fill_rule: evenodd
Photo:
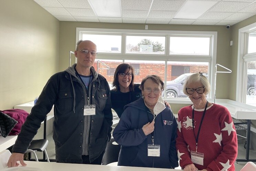
<path fill-rule="evenodd" d="M 204 72 L 213 87 L 216 37 L 217 32 L 77 28 L 76 39 L 90 39 L 97 45 L 94 67 L 109 84 L 115 68 L 128 63 L 134 68 L 135 83 L 147 75 L 160 76 L 166 87 L 163 96 L 171 100 L 187 98 L 182 93 L 184 80 L 179 90 L 172 89 L 171 82 L 191 73 Z M 214 98 L 213 89 L 209 98 Z"/>

